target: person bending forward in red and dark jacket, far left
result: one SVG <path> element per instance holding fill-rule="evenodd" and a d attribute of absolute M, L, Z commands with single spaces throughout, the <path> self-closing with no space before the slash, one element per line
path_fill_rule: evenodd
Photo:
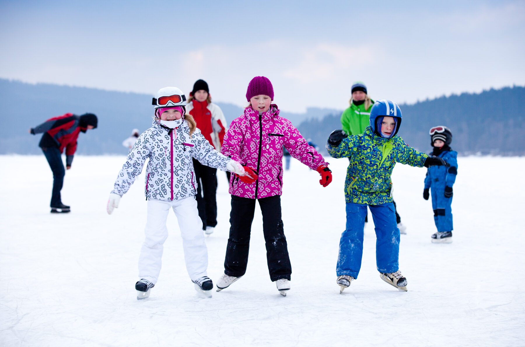
<path fill-rule="evenodd" d="M 97 128 L 98 119 L 95 114 L 75 115 L 66 113 L 50 118 L 44 123 L 29 129 L 35 135 L 44 133 L 38 144 L 46 156 L 49 167 L 53 171 L 53 192 L 51 193 L 51 212 L 69 212 L 69 206 L 62 204 L 60 191 L 64 184 L 64 163 L 61 154 L 66 150 L 66 167 L 71 169 L 73 156 L 77 150 L 77 139 L 80 132 Z"/>

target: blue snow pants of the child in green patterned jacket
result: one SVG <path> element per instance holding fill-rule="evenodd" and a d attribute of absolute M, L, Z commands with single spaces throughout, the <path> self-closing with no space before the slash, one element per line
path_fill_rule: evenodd
<path fill-rule="evenodd" d="M 366 206 L 369 206 L 375 225 L 375 259 L 379 272 L 399 269 L 399 229 L 393 203 L 381 205 L 346 204 L 346 230 L 339 242 L 337 276 L 358 278 L 363 256 L 363 231 Z"/>

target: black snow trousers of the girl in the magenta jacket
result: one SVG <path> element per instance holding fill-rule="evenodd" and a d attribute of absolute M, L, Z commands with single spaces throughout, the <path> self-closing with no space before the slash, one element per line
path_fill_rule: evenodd
<path fill-rule="evenodd" d="M 281 196 L 276 195 L 257 200 L 262 213 L 262 232 L 266 241 L 266 259 L 270 279 L 272 281 L 281 278 L 290 280 L 292 268 L 281 219 Z M 246 273 L 255 201 L 256 199 L 232 195 L 232 212 L 230 212 L 232 226 L 224 260 L 224 273 L 228 276 L 240 277 Z"/>

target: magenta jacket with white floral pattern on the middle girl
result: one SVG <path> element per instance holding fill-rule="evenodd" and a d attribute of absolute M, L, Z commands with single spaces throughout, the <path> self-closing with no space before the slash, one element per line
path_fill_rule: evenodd
<path fill-rule="evenodd" d="M 247 107 L 230 125 L 221 152 L 255 169 L 259 178 L 247 184 L 232 175 L 229 193 L 252 199 L 281 195 L 283 146 L 291 156 L 313 170 L 328 165 L 288 119 L 279 117 L 277 105 L 272 104 L 260 117 L 259 112 Z"/>

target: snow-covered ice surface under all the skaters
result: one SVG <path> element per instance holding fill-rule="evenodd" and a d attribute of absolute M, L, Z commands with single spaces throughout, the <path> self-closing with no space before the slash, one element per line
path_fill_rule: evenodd
<path fill-rule="evenodd" d="M 525 158 L 459 158 L 452 244 L 430 242 L 436 229 L 422 197 L 425 169 L 396 165 L 408 292 L 380 279 L 371 223 L 359 278 L 339 294 L 348 160 L 329 159 L 334 181 L 327 188 L 294 160 L 282 197 L 293 271 L 287 297 L 269 279 L 257 207 L 246 275 L 211 299 L 193 289 L 171 213 L 159 281 L 140 301 L 134 284 L 144 175 L 109 216 L 107 198 L 124 157 L 76 156 L 62 190 L 71 213 L 57 215 L 49 213 L 52 176 L 44 156 L 1 159 L 0 345 L 317 346 L 346 338 L 352 345 L 525 345 Z M 225 174 L 217 178 L 218 225 L 206 238 L 214 282 L 224 271 L 230 209 Z"/>

